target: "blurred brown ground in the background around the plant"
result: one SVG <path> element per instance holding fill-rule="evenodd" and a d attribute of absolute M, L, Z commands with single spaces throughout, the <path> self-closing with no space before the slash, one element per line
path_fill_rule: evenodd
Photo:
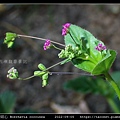
<path fill-rule="evenodd" d="M 64 44 L 61 35 L 66 22 L 90 31 L 107 48 L 117 51 L 110 72 L 120 70 L 120 5 L 117 4 L 0 4 L 0 111 L 12 113 L 112 113 L 104 95 L 64 89 L 64 83 L 79 75 L 51 75 L 42 87 L 38 77 L 26 81 L 9 80 L 11 67 L 20 77 L 33 75 L 37 65 L 49 67 L 59 62 L 59 51 L 43 50 L 43 41 L 17 38 L 13 48 L 3 44 L 6 32 L 49 38 Z M 16 62 L 15 62 L 16 61 Z M 80 72 L 71 63 L 51 71 Z M 117 74 L 119 78 L 119 74 Z M 84 86 L 84 85 L 83 85 Z M 91 86 L 89 86 L 91 87 Z M 110 86 L 109 86 L 110 87 Z M 106 90 L 104 90 L 106 91 Z M 4 96 L 4 97 L 3 97 Z M 9 109 L 8 109 L 9 106 Z"/>

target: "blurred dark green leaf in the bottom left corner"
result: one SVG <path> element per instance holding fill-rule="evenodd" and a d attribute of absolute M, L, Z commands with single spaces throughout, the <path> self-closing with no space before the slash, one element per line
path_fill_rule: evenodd
<path fill-rule="evenodd" d="M 16 104 L 16 96 L 11 91 L 0 94 L 0 113 L 12 113 Z"/>

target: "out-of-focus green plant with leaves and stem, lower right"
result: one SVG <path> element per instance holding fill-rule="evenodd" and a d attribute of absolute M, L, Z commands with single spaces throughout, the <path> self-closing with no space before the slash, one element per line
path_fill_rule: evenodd
<path fill-rule="evenodd" d="M 120 71 L 111 73 L 112 77 L 120 87 Z M 80 76 L 63 83 L 65 90 L 72 90 L 87 95 L 89 93 L 102 95 L 109 103 L 114 113 L 120 113 L 120 101 L 116 98 L 114 90 L 102 77 Z"/>

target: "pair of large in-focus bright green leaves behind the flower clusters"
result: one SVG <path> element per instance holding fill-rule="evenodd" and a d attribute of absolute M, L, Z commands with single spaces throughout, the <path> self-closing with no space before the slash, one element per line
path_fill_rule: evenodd
<path fill-rule="evenodd" d="M 114 50 L 97 51 L 95 47 L 99 43 L 103 45 L 104 43 L 95 38 L 89 31 L 73 24 L 70 25 L 67 35 L 64 36 L 64 41 L 66 46 L 78 47 L 82 51 L 79 56 L 75 56 L 71 60 L 73 65 L 93 75 L 107 72 L 116 58 Z"/>

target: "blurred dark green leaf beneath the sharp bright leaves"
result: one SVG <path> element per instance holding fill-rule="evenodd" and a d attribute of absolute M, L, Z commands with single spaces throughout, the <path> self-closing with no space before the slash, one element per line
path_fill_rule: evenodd
<path fill-rule="evenodd" d="M 69 80 L 63 84 L 65 90 L 74 90 L 83 94 L 99 94 L 105 97 L 113 97 L 114 90 L 109 84 L 101 78 L 92 78 L 80 76 L 76 79 Z"/>

